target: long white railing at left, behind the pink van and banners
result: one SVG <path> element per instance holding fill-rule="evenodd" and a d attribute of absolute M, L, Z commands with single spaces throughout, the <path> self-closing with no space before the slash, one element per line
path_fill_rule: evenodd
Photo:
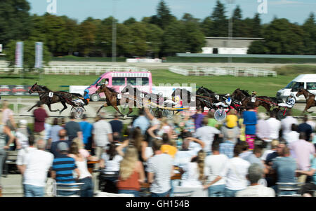
<path fill-rule="evenodd" d="M 6 64 L 0 65 L 0 72 L 11 72 L 18 74 L 20 68 L 8 67 Z M 147 69 L 131 66 L 98 66 L 98 65 L 53 65 L 44 67 L 44 74 L 103 74 L 105 72 L 147 72 Z M 39 72 L 34 70 L 34 72 Z"/>

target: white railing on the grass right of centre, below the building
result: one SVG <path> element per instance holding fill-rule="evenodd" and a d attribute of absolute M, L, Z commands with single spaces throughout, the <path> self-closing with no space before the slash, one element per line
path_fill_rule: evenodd
<path fill-rule="evenodd" d="M 263 67 L 169 67 L 169 71 L 183 76 L 277 76 L 277 72 Z"/>

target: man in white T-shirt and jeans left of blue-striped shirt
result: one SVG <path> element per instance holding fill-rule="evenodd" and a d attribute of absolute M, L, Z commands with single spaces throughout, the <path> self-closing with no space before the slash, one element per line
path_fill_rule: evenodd
<path fill-rule="evenodd" d="M 25 197 L 44 197 L 47 172 L 53 164 L 53 154 L 45 151 L 43 139 L 37 141 L 37 150 L 25 156 L 22 165 Z"/>

